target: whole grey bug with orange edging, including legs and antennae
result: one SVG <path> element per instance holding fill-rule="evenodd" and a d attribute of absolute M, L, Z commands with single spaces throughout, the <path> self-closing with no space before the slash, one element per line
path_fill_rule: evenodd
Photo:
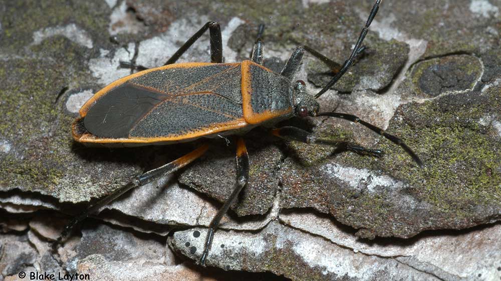
<path fill-rule="evenodd" d="M 147 69 L 122 62 L 123 67 L 139 70 L 98 91 L 80 109 L 80 117 L 72 125 L 73 137 L 84 144 L 104 146 L 142 146 L 189 142 L 202 137 L 236 135 L 236 185 L 215 217 L 212 219 L 199 263 L 204 266 L 212 238 L 221 218 L 246 186 L 249 177 L 248 155 L 243 140 L 245 132 L 256 126 L 265 126 L 283 139 L 309 144 L 343 145 L 358 153 L 380 155 L 381 151 L 314 137 L 310 132 L 293 127 L 275 127 L 285 119 L 306 116 L 329 116 L 360 123 L 402 147 L 420 166 L 417 155 L 400 138 L 365 122 L 355 115 L 338 112 L 320 112 L 315 100 L 333 86 L 356 58 L 364 51 L 362 42 L 377 14 L 382 0 L 377 0 L 353 48 L 350 57 L 339 65 L 308 46 L 297 47 L 281 73 L 262 66 L 261 25 L 250 60 L 239 63 L 222 62 L 222 42 L 219 25 L 206 23 L 164 66 Z M 210 35 L 210 63 L 179 63 L 179 57 L 207 30 Z M 305 82 L 293 82 L 305 52 L 327 64 L 335 73 L 332 80 L 315 96 L 306 92 Z M 202 156 L 208 149 L 204 144 L 157 169 L 135 177 L 129 184 L 88 207 L 64 229 L 57 243 L 73 226 L 90 213 L 110 203 L 128 190 L 142 186 L 153 179 L 172 173 Z"/>

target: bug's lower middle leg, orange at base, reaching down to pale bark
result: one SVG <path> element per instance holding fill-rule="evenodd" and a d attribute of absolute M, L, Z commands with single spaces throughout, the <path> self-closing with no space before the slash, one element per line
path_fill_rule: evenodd
<path fill-rule="evenodd" d="M 247 149 L 245 147 L 245 143 L 243 142 L 242 137 L 238 137 L 236 143 L 236 186 L 233 189 L 233 192 L 228 197 L 226 202 L 224 202 L 223 206 L 217 214 L 214 216 L 212 221 L 210 222 L 209 229 L 207 232 L 207 236 L 205 237 L 205 245 L 203 248 L 202 256 L 200 257 L 199 264 L 201 266 L 205 266 L 205 259 L 207 258 L 207 254 L 210 250 L 210 245 L 212 244 L 212 239 L 214 238 L 214 231 L 216 231 L 219 226 L 219 222 L 221 218 L 226 214 L 229 209 L 229 206 L 233 204 L 233 202 L 238 197 L 240 191 L 247 185 L 249 178 L 249 159 L 247 155 Z"/>

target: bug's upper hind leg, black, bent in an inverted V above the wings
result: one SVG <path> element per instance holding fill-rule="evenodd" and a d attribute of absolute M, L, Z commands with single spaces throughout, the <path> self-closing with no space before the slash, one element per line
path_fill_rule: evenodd
<path fill-rule="evenodd" d="M 216 22 L 207 22 L 203 27 L 197 31 L 190 39 L 188 39 L 179 50 L 177 50 L 172 57 L 164 64 L 172 64 L 179 59 L 179 57 L 188 50 L 195 41 L 197 41 L 200 36 L 202 36 L 207 29 L 210 32 L 210 62 L 221 63 L 222 62 L 222 39 L 221 39 L 221 28 Z"/>

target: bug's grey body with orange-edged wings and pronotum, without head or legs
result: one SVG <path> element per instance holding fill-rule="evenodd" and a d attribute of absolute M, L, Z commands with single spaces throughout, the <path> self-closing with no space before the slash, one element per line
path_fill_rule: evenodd
<path fill-rule="evenodd" d="M 294 103 L 291 81 L 252 61 L 170 64 L 96 93 L 81 108 L 73 136 L 130 146 L 241 134 L 292 117 Z"/>

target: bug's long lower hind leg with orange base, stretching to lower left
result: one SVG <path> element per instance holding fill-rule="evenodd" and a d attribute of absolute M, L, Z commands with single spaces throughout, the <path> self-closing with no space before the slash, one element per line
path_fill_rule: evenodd
<path fill-rule="evenodd" d="M 80 215 L 74 217 L 68 225 L 63 229 L 63 232 L 59 236 L 59 238 L 54 242 L 53 244 L 53 250 L 56 250 L 56 247 L 66 239 L 66 237 L 71 233 L 73 230 L 73 227 L 79 223 L 80 221 L 84 220 L 87 216 L 92 214 L 93 212 L 97 211 L 99 208 L 109 204 L 113 200 L 117 199 L 127 191 L 145 185 L 155 178 L 158 178 L 162 175 L 167 175 L 170 173 L 173 173 L 182 167 L 188 165 L 189 163 L 193 162 L 200 156 L 202 156 L 208 149 L 208 145 L 202 145 L 199 148 L 195 149 L 194 151 L 186 154 L 185 156 L 182 156 L 170 163 L 167 163 L 161 167 L 158 167 L 156 169 L 153 169 L 151 171 L 148 171 L 140 176 L 135 177 L 130 181 L 127 185 L 117 189 L 114 191 L 112 194 L 100 199 L 98 202 L 90 205 L 85 211 L 83 211 Z"/>

